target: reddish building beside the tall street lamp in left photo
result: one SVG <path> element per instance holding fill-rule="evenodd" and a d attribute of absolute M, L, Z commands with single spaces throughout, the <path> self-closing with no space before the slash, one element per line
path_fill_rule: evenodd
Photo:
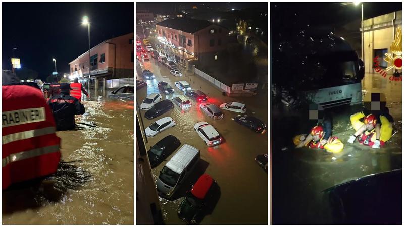
<path fill-rule="evenodd" d="M 70 78 L 128 78 L 134 75 L 134 33 L 108 39 L 69 63 Z M 89 64 L 90 63 L 90 64 Z M 90 67 L 89 67 L 90 66 Z"/>

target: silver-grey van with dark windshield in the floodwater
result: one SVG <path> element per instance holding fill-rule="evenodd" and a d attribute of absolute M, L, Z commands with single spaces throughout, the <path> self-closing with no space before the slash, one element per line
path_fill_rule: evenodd
<path fill-rule="evenodd" d="M 192 172 L 199 159 L 200 152 L 198 149 L 188 144 L 182 146 L 160 171 L 156 182 L 158 194 L 170 198 L 177 186 Z"/>

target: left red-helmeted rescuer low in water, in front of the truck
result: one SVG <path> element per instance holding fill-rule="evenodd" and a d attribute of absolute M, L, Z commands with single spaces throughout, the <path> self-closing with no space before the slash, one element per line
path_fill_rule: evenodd
<path fill-rule="evenodd" d="M 326 121 L 324 122 L 326 123 Z M 331 129 L 331 127 L 327 127 Z M 328 138 L 325 136 L 327 134 Z M 312 128 L 309 135 L 298 135 L 293 139 L 296 148 L 308 146 L 309 148 L 319 148 L 330 153 L 339 153 L 343 150 L 344 145 L 338 137 L 331 136 L 331 132 L 325 132 L 323 126 L 317 125 Z"/>

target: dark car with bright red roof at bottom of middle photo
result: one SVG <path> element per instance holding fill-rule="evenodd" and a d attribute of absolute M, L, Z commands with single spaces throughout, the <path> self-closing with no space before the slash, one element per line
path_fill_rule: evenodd
<path fill-rule="evenodd" d="M 196 224 L 204 216 L 204 208 L 208 197 L 212 197 L 213 185 L 215 181 L 208 174 L 203 174 L 193 185 L 190 192 L 181 202 L 178 217 L 184 222 Z"/>

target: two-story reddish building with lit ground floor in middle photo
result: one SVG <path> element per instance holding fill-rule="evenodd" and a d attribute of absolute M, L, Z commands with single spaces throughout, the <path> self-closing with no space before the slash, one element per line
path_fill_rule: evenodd
<path fill-rule="evenodd" d="M 163 52 L 174 55 L 177 63 L 186 68 L 189 61 L 217 60 L 229 41 L 227 28 L 206 20 L 167 19 L 157 23 L 156 30 Z"/>

